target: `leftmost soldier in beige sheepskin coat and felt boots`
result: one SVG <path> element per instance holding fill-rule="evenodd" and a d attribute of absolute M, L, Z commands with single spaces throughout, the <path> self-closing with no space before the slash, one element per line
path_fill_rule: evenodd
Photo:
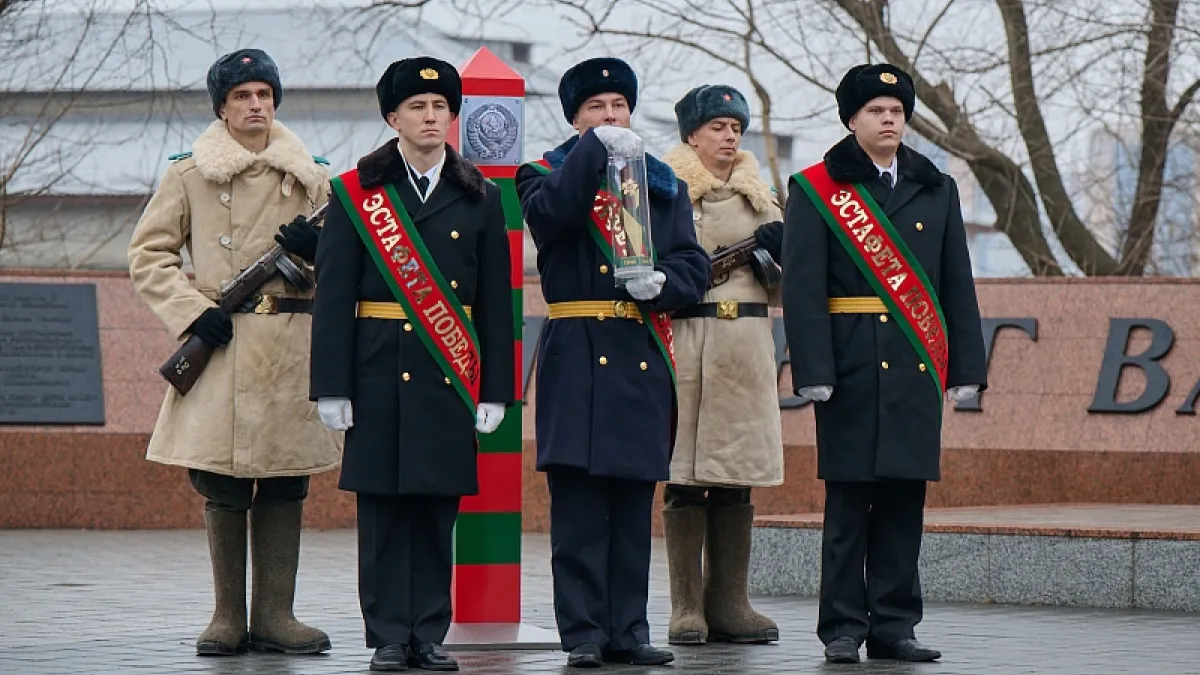
<path fill-rule="evenodd" d="M 130 276 L 150 310 L 172 336 L 215 350 L 186 396 L 167 388 L 146 459 L 187 467 L 206 497 L 216 607 L 197 653 L 316 653 L 330 649 L 329 637 L 292 614 L 302 504 L 308 477 L 338 466 L 342 435 L 308 401 L 312 294 L 275 277 L 262 288 L 271 301 L 229 315 L 216 300 L 276 241 L 298 264 L 312 261 L 318 231 L 304 216 L 328 199 L 329 179 L 275 121 L 283 90 L 270 56 L 229 54 L 208 84 L 220 119 L 173 157 L 130 243 Z M 185 246 L 194 280 L 181 269 Z"/>

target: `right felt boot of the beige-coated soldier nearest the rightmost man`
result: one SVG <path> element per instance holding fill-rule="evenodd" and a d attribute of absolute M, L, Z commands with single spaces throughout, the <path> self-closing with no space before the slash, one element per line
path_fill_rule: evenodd
<path fill-rule="evenodd" d="M 764 644 L 779 640 L 774 621 L 750 607 L 750 526 L 754 506 L 708 507 L 704 619 L 710 641 Z"/>

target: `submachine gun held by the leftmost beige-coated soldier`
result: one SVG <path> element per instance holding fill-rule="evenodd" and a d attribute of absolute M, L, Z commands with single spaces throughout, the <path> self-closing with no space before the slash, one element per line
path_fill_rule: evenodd
<path fill-rule="evenodd" d="M 308 223 L 317 225 L 324 220 L 328 207 L 329 203 L 326 202 L 313 211 L 308 216 Z M 287 256 L 283 246 L 276 244 L 254 261 L 253 264 L 241 270 L 238 276 L 221 287 L 221 299 L 217 301 L 217 306 L 224 310 L 226 313 L 234 313 L 242 303 L 258 293 L 263 285 L 270 281 L 276 273 L 301 292 L 308 292 L 314 286 L 308 274 Z M 158 374 L 180 395 L 187 395 L 196 384 L 196 381 L 200 378 L 204 369 L 209 365 L 212 352 L 214 348 L 205 345 L 203 340 L 196 335 L 190 335 L 187 341 L 162 364 Z"/>

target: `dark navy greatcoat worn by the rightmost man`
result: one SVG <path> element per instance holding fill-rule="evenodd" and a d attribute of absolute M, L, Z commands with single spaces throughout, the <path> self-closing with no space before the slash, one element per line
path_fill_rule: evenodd
<path fill-rule="evenodd" d="M 982 390 L 983 331 L 958 185 L 905 145 L 898 162 L 900 177 L 888 195 L 853 136 L 824 156 L 834 180 L 868 186 L 929 276 L 946 316 L 947 389 L 979 384 Z M 920 358 L 894 317 L 829 313 L 829 298 L 877 295 L 794 178 L 781 263 L 792 384 L 834 387 L 828 401 L 815 404 L 817 477 L 938 480 L 937 386 L 920 370 Z"/>

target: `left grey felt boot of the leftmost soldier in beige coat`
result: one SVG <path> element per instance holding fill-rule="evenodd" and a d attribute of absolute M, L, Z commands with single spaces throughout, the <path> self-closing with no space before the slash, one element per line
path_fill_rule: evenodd
<path fill-rule="evenodd" d="M 212 558 L 215 607 L 209 627 L 196 639 L 199 656 L 246 651 L 246 512 L 204 510 Z"/>

